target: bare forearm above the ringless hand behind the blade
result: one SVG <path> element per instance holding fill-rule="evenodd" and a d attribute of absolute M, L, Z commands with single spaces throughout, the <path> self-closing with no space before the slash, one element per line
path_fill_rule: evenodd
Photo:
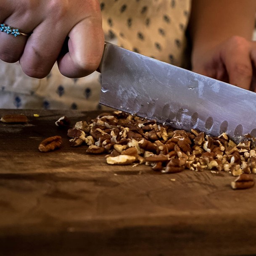
<path fill-rule="evenodd" d="M 251 40 L 255 13 L 256 0 L 192 0 L 192 61 L 232 36 Z"/>

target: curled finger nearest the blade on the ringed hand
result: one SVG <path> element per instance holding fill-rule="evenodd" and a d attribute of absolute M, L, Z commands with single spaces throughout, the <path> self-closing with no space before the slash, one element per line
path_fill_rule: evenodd
<path fill-rule="evenodd" d="M 66 77 L 85 77 L 95 71 L 101 61 L 104 34 L 101 19 L 88 17 L 69 33 L 69 52 L 58 59 L 58 68 Z"/>

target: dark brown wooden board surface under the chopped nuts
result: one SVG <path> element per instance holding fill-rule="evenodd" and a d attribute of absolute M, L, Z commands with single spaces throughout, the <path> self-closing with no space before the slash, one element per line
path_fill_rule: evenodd
<path fill-rule="evenodd" d="M 7 113 L 29 123 L 0 123 L 1 256 L 256 255 L 256 187 L 232 190 L 225 172 L 109 166 L 86 146 L 71 148 L 55 121 L 97 112 Z M 63 147 L 41 153 L 54 135 Z"/>

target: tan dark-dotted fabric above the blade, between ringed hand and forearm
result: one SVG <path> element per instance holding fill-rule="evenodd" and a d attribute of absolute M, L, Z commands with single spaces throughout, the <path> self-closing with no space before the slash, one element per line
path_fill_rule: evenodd
<path fill-rule="evenodd" d="M 108 31 L 111 39 L 114 34 L 119 46 L 182 66 L 190 2 L 101 0 L 103 30 Z"/>

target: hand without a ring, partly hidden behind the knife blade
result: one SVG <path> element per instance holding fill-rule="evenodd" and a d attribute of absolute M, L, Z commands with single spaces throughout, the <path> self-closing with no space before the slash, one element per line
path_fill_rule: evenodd
<path fill-rule="evenodd" d="M 256 42 L 231 37 L 193 56 L 192 70 L 256 92 Z"/>

